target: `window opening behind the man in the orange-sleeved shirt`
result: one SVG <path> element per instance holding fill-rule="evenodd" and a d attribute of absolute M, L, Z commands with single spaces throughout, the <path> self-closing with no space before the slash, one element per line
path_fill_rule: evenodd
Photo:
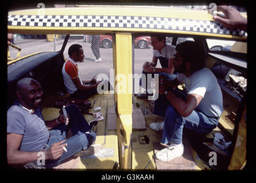
<path fill-rule="evenodd" d="M 99 74 L 109 78 L 113 69 L 112 40 L 111 35 L 70 34 L 64 58 L 69 57 L 68 49 L 71 45 L 79 44 L 84 50 L 84 61 L 77 63 L 81 78 L 88 81 Z"/>

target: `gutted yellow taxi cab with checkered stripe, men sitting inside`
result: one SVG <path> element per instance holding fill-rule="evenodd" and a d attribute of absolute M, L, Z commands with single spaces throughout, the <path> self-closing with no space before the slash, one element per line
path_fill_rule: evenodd
<path fill-rule="evenodd" d="M 239 73 L 239 76 L 246 79 L 247 33 L 245 31 L 227 29 L 215 22 L 207 10 L 157 6 L 46 8 L 44 14 L 38 14 L 38 9 L 15 10 L 8 12 L 7 30 L 13 34 L 47 34 L 48 38 L 56 38 L 55 43 L 52 42 L 53 45 L 50 46 L 51 49 L 54 47 L 55 51 L 43 49 L 42 45 L 46 40 L 39 42 L 33 39 L 27 55 L 21 55 L 7 62 L 8 107 L 15 100 L 15 82 L 23 77 L 31 77 L 39 81 L 44 89 L 42 113 L 45 119 L 49 120 L 56 117 L 60 110 L 54 107 L 55 102 L 69 97 L 62 80 L 61 68 L 67 58 L 65 50 L 74 42 L 72 35 L 81 35 L 81 37 L 85 35 L 84 39 L 77 39 L 81 44 L 90 43 L 86 35 L 111 37 L 112 47 L 101 50 L 101 59 L 111 58 L 99 63 L 96 69 L 104 66 L 104 70 L 113 69 L 110 79 L 113 79 L 115 92 L 97 94 L 88 98 L 93 104 L 88 112 L 93 113 L 93 108 L 100 106 L 104 116 L 104 120 L 99 121 L 96 126 L 96 144 L 101 144 L 102 153 L 80 157 L 75 164 L 67 162 L 58 168 L 239 170 L 246 165 L 246 87 L 243 87 L 244 90 L 238 89 L 237 85 L 231 86 L 234 79 L 230 79 L 229 82 L 225 80 L 227 75 L 233 73 Z M 121 77 L 131 78 L 131 75 L 135 74 L 138 62 L 143 60 L 144 56 L 140 55 L 143 51 L 146 51 L 145 55 L 149 55 L 149 59 L 152 58 L 152 50 L 135 48 L 135 40 L 138 37 L 147 38 L 152 35 L 165 35 L 167 40 L 171 40 L 167 43 L 174 46 L 187 39 L 198 43 L 198 46 L 207 53 L 206 66 L 212 69 L 218 78 L 223 94 L 224 112 L 216 129 L 206 136 L 184 132 L 186 137 L 183 143 L 186 144 L 187 153 L 179 161 L 164 164 L 155 161 L 154 157 L 157 142 L 159 143 L 162 134 L 149 128 L 152 122 L 160 122 L 163 118 L 152 113 L 153 101 L 135 96 L 132 79 L 132 82 L 123 82 Z M 59 42 L 58 38 L 61 37 L 62 42 Z M 25 41 L 23 45 L 26 44 Z M 212 41 L 233 42 L 233 45 L 230 45 L 229 51 L 211 50 L 214 45 L 209 46 L 208 42 L 212 43 Z M 57 46 L 58 51 L 56 51 Z M 150 43 L 148 46 L 150 47 Z M 21 48 L 22 51 L 25 50 L 25 46 Z M 84 50 L 85 57 L 89 57 L 86 51 L 89 53 L 90 47 Z M 106 50 L 109 52 L 104 54 Z M 90 77 L 93 77 L 94 74 L 100 73 L 100 71 L 97 73 L 98 70 L 90 71 L 88 67 L 92 67 L 94 62 L 88 63 L 90 65 L 86 65 L 87 69 L 80 69 L 80 72 L 84 72 L 81 72 L 81 75 L 89 73 Z M 139 70 L 141 71 L 141 67 Z M 230 87 L 227 83 L 230 83 Z M 142 119 L 138 120 L 134 117 L 133 113 L 137 111 L 142 115 Z M 89 114 L 84 114 L 84 117 L 87 121 L 93 120 L 93 116 Z M 144 128 L 135 128 L 140 120 L 144 121 Z M 227 149 L 214 144 L 215 133 L 222 134 L 226 142 L 230 142 Z M 212 158 L 216 158 L 216 162 L 212 161 Z"/>

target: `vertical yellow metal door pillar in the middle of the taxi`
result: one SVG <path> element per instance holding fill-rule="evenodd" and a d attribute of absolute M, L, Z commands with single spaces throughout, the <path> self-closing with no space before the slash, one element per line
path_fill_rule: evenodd
<path fill-rule="evenodd" d="M 132 82 L 128 82 L 129 74 L 132 74 L 131 33 L 116 33 L 113 41 L 113 63 L 120 168 L 131 169 L 132 94 L 129 90 Z"/>

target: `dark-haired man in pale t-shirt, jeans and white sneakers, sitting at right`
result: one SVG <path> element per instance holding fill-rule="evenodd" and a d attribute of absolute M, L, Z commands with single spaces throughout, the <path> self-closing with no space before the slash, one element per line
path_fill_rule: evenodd
<path fill-rule="evenodd" d="M 192 41 L 180 43 L 176 51 L 174 67 L 179 74 L 171 82 L 160 77 L 159 100 L 155 102 L 154 113 L 165 120 L 150 125 L 153 130 L 163 130 L 162 144 L 170 143 L 156 153 L 157 160 L 162 161 L 182 156 L 184 127 L 210 133 L 223 112 L 222 92 L 215 75 L 204 67 L 204 51 Z M 187 96 L 174 89 L 181 82 L 186 86 Z"/>

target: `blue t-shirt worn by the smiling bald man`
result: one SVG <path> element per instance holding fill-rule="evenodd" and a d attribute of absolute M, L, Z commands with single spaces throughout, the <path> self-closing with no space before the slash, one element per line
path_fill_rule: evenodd
<path fill-rule="evenodd" d="M 40 151 L 49 138 L 41 109 L 30 114 L 17 102 L 7 110 L 7 133 L 22 134 L 19 150 L 26 152 Z"/>

